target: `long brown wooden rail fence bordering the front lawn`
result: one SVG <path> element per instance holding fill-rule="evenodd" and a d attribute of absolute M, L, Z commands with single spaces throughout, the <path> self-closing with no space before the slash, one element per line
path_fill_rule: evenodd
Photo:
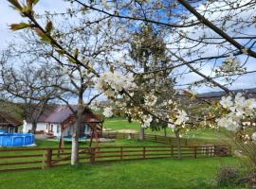
<path fill-rule="evenodd" d="M 71 148 L 4 148 L 0 149 L 0 172 L 45 169 L 70 163 Z M 227 156 L 229 146 L 182 146 L 182 158 Z M 80 163 L 177 158 L 176 146 L 102 146 L 80 149 Z"/>

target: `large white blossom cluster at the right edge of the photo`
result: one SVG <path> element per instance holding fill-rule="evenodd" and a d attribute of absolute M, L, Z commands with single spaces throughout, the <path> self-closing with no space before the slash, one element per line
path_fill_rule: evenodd
<path fill-rule="evenodd" d="M 237 131 L 247 125 L 245 122 L 242 123 L 244 119 L 255 116 L 256 100 L 254 98 L 246 99 L 241 93 L 236 94 L 234 98 L 230 95 L 223 96 L 220 104 L 228 113 L 216 119 L 219 127 Z"/>

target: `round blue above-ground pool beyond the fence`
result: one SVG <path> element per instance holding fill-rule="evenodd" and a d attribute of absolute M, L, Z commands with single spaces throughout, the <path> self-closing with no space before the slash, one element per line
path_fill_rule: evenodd
<path fill-rule="evenodd" d="M 34 135 L 30 133 L 0 134 L 0 146 L 30 146 L 34 144 Z"/>

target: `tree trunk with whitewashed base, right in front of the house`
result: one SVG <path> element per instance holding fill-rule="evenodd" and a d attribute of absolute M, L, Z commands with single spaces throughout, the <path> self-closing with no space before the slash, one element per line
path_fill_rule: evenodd
<path fill-rule="evenodd" d="M 72 133 L 72 149 L 71 149 L 71 165 L 79 164 L 79 136 L 80 128 L 82 126 L 82 99 L 79 100 L 79 105 L 76 114 L 76 123 Z"/>

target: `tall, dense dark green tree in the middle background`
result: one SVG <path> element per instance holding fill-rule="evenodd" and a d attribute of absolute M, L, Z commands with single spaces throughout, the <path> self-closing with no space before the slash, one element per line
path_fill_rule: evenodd
<path fill-rule="evenodd" d="M 145 103 L 145 93 L 156 94 L 157 103 L 171 99 L 171 94 L 174 94 L 173 78 L 170 77 L 172 69 L 166 68 L 171 66 L 172 62 L 162 34 L 157 29 L 154 30 L 153 26 L 143 25 L 134 32 L 130 44 L 130 56 L 134 60 L 134 66 L 141 69 L 140 76 L 136 79 L 138 91 L 135 96 L 138 103 Z M 155 73 L 155 70 L 159 69 L 164 72 Z M 148 74 L 151 72 L 152 74 Z M 160 127 L 166 128 L 167 124 L 157 123 L 155 120 L 151 124 L 152 129 Z M 140 127 L 139 139 L 144 139 L 143 125 Z"/>

